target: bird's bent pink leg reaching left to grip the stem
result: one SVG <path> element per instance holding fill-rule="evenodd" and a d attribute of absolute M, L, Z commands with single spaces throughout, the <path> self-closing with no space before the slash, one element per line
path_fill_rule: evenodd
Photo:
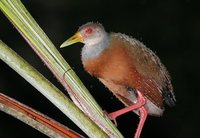
<path fill-rule="evenodd" d="M 110 114 L 108 114 L 109 118 L 111 120 L 113 120 L 114 122 L 116 122 L 116 118 L 122 114 L 125 114 L 127 112 L 130 112 L 130 111 L 133 111 L 133 110 L 136 110 L 136 109 L 139 109 L 140 107 L 142 107 L 143 105 L 146 104 L 146 99 L 145 97 L 142 95 L 142 93 L 140 91 L 137 90 L 137 94 L 138 94 L 138 97 L 137 97 L 137 103 L 133 104 L 133 105 L 130 105 L 130 106 L 127 106 L 123 109 L 120 109 L 118 111 L 115 111 L 115 112 L 112 112 Z"/>

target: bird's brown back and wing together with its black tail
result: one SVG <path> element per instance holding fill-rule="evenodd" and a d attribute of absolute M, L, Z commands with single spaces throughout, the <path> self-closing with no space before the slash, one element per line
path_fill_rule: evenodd
<path fill-rule="evenodd" d="M 150 80 L 162 92 L 166 104 L 174 106 L 176 99 L 169 73 L 155 53 L 143 43 L 129 36 L 120 33 L 114 33 L 113 36 L 115 39 L 120 39 L 125 45 L 132 45 L 127 48 L 131 51 L 130 56 L 133 57 L 139 74 Z"/>

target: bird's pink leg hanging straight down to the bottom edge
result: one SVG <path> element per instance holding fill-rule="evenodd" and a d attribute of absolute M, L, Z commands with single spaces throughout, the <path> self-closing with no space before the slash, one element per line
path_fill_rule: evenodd
<path fill-rule="evenodd" d="M 137 128 L 137 131 L 135 133 L 135 138 L 140 138 L 140 134 L 142 132 L 142 128 L 144 126 L 144 123 L 146 121 L 146 118 L 147 118 L 147 109 L 142 106 L 139 108 L 139 111 L 140 111 L 140 122 L 138 124 L 138 128 Z"/>

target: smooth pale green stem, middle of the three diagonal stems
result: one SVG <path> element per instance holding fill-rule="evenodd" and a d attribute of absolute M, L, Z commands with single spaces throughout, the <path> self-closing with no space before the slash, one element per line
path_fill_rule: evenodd
<path fill-rule="evenodd" d="M 0 41 L 0 59 L 33 85 L 66 116 L 68 116 L 89 137 L 108 137 L 92 120 L 90 120 L 59 89 L 44 78 L 36 69 L 22 59 L 17 53 Z"/>

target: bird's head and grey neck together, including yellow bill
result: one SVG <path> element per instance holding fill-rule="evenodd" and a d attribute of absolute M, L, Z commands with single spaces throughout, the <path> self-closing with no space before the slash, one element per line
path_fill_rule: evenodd
<path fill-rule="evenodd" d="M 77 33 L 65 41 L 62 47 L 81 42 L 84 43 L 82 49 L 82 60 L 94 58 L 108 46 L 109 37 L 104 27 L 99 23 L 89 22 L 79 27 Z"/>

